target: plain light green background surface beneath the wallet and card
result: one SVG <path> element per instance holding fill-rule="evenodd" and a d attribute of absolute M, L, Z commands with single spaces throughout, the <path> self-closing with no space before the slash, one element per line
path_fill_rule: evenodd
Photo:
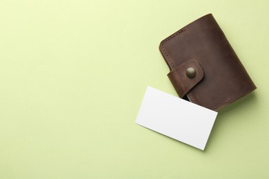
<path fill-rule="evenodd" d="M 210 12 L 258 89 L 200 151 L 135 118 L 177 95 L 159 42 Z M 269 178 L 268 32 L 266 0 L 1 0 L 0 178 Z"/>

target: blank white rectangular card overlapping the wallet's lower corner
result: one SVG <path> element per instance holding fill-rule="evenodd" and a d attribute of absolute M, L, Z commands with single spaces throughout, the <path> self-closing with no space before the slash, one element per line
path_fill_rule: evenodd
<path fill-rule="evenodd" d="M 136 123 L 203 150 L 217 112 L 147 87 Z"/>

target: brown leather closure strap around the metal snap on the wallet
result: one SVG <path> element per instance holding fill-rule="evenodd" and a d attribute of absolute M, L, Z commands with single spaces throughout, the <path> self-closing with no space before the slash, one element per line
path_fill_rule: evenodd
<path fill-rule="evenodd" d="M 189 67 L 195 70 L 195 76 L 192 76 L 192 78 L 186 74 L 186 70 Z M 197 61 L 189 60 L 176 67 L 167 76 L 175 87 L 179 97 L 183 98 L 192 87 L 195 87 L 203 79 L 203 70 Z"/>

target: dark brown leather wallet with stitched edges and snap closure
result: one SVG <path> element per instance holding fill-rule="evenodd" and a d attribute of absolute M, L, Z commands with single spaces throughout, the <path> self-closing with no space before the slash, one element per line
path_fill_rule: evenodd
<path fill-rule="evenodd" d="M 218 111 L 256 89 L 212 14 L 161 41 L 180 98 Z"/>

